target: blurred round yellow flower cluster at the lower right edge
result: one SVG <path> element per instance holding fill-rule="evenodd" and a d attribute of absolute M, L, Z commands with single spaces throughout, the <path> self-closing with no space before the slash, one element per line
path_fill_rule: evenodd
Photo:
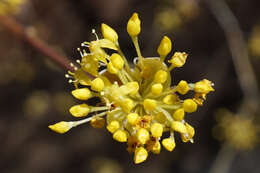
<path fill-rule="evenodd" d="M 260 126 L 252 118 L 219 110 L 214 136 L 237 150 L 251 150 L 259 142 Z"/>

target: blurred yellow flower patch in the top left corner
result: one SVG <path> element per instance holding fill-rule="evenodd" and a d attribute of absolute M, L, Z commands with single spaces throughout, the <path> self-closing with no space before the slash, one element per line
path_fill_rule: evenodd
<path fill-rule="evenodd" d="M 24 2 L 25 0 L 1 0 L 0 15 L 16 13 L 19 6 L 22 5 Z"/>

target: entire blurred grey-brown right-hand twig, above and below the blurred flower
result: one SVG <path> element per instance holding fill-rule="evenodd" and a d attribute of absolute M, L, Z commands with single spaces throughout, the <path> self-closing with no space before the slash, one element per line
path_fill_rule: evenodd
<path fill-rule="evenodd" d="M 251 110 L 251 115 L 249 112 L 246 115 L 252 116 L 257 111 L 259 104 L 259 90 L 239 23 L 225 0 L 206 0 L 206 2 L 225 33 L 244 94 L 244 104 L 241 106 L 243 108 L 239 112 L 243 114 L 243 111 Z M 250 108 L 248 109 L 247 106 Z M 209 172 L 228 173 L 235 155 L 235 150 L 229 148 L 227 144 L 223 144 Z"/>

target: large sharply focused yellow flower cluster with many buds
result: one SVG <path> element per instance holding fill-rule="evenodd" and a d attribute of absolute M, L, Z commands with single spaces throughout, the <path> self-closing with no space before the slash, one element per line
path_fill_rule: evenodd
<path fill-rule="evenodd" d="M 129 153 L 134 153 L 134 162 L 141 163 L 147 159 L 148 153 L 159 154 L 161 145 L 168 151 L 175 148 L 174 133 L 181 135 L 183 142 L 193 142 L 194 128 L 185 121 L 185 114 L 192 113 L 202 105 L 206 94 L 214 91 L 209 80 L 195 84 L 180 81 L 171 86 L 171 70 L 182 67 L 187 59 L 184 52 L 175 52 L 164 62 L 171 52 L 172 43 L 168 37 L 163 37 L 157 52 L 160 57 L 144 58 L 138 45 L 138 34 L 141 31 L 141 21 L 137 13 L 129 19 L 127 32 L 132 38 L 138 58 L 134 64 L 129 64 L 120 50 L 117 33 L 108 25 L 102 24 L 103 39 L 84 42 L 85 49 L 80 50 L 82 59 L 79 67 L 69 72 L 67 78 L 74 83 L 72 95 L 79 100 L 98 97 L 98 106 L 85 103 L 70 108 L 74 117 L 88 118 L 59 122 L 49 128 L 65 133 L 79 124 L 91 122 L 93 127 L 105 125 L 118 142 L 126 142 Z M 115 51 L 112 55 L 104 48 Z M 100 71 L 101 70 L 101 71 Z M 89 76 L 92 75 L 92 77 Z M 193 92 L 194 97 L 182 100 L 181 97 Z M 168 137 L 162 139 L 163 133 Z"/>

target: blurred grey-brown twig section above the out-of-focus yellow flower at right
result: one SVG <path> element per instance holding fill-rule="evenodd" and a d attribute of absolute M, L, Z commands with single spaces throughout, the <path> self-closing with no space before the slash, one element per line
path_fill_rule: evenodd
<path fill-rule="evenodd" d="M 259 90 L 239 23 L 225 0 L 206 0 L 206 2 L 225 33 L 244 94 L 244 106 L 250 106 L 253 114 L 258 107 Z"/>

